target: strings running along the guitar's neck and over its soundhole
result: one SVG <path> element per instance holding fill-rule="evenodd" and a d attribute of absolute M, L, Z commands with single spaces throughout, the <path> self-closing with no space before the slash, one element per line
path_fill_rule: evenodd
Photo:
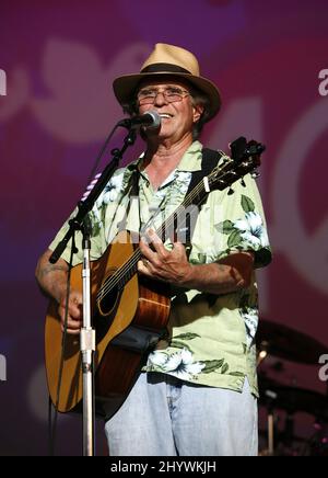
<path fill-rule="evenodd" d="M 227 161 L 226 163 L 222 164 L 222 167 L 220 169 L 215 169 L 213 170 L 209 175 L 208 179 L 211 181 L 213 177 L 218 175 L 219 173 L 221 173 L 221 178 L 219 178 L 219 181 L 224 182 L 223 178 L 224 175 L 226 175 L 227 173 L 232 173 L 237 175 L 237 173 L 235 171 L 232 171 L 231 169 L 227 169 L 227 167 L 230 167 L 233 163 L 233 161 Z M 227 170 L 225 170 L 227 169 Z M 218 179 L 216 179 L 218 181 Z M 229 183 L 226 184 L 229 185 Z M 195 200 L 196 196 L 198 196 L 203 190 L 204 190 L 204 184 L 203 184 L 203 180 L 201 180 L 198 185 L 191 191 L 190 194 L 188 194 L 188 196 L 185 198 L 185 201 L 183 202 L 183 204 L 175 210 L 175 213 L 173 213 L 165 221 L 164 224 L 162 224 L 162 226 L 155 231 L 157 235 L 163 235 L 163 232 L 165 231 L 165 227 L 172 227 L 174 225 L 174 221 L 178 219 L 179 215 L 181 213 L 185 212 L 185 206 L 189 206 L 192 204 L 192 201 Z M 190 204 L 188 204 L 190 203 Z M 180 210 L 183 209 L 183 210 Z M 114 273 L 112 276 L 107 277 L 104 281 L 104 284 L 102 286 L 102 288 L 98 291 L 97 296 L 96 296 L 96 301 L 97 305 L 99 304 L 99 301 L 106 296 L 106 294 L 108 292 L 110 292 L 114 287 L 116 287 L 119 282 L 121 281 L 121 278 L 127 275 L 128 272 L 132 273 L 132 276 L 134 275 L 136 271 L 133 270 L 133 268 L 136 268 L 137 262 L 140 260 L 141 258 L 141 251 L 140 248 L 138 247 L 138 249 L 136 249 L 136 251 L 133 252 L 133 254 L 128 259 L 128 261 L 119 269 L 119 271 L 117 273 Z M 132 277 L 131 276 L 131 277 Z M 130 278 L 131 278 L 130 277 Z M 129 280 L 130 280 L 129 278 Z M 128 280 L 128 281 L 129 281 Z"/>

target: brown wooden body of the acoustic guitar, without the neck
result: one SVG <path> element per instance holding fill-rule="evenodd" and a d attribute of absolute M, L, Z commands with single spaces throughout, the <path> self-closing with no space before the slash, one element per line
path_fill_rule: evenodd
<path fill-rule="evenodd" d="M 112 417 L 127 398 L 145 353 L 166 330 L 171 300 L 165 284 L 140 280 L 134 274 L 121 289 L 97 301 L 104 280 L 108 280 L 132 255 L 129 232 L 121 231 L 97 261 L 91 262 L 91 303 L 96 330 L 96 413 Z M 71 271 L 71 288 L 82 293 L 82 264 Z M 62 332 L 58 304 L 49 304 L 46 317 L 45 355 L 49 395 L 60 412 L 79 410 L 83 398 L 80 335 L 67 334 L 59 399 Z"/>

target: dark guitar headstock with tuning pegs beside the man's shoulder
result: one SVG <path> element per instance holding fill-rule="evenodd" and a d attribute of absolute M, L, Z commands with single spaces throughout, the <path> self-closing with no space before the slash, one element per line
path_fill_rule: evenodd
<path fill-rule="evenodd" d="M 231 186 L 237 180 L 251 173 L 258 175 L 257 168 L 261 164 L 260 156 L 266 147 L 254 139 L 247 143 L 246 138 L 241 136 L 231 145 L 231 159 L 219 166 L 209 178 L 211 189 L 223 191 Z"/>

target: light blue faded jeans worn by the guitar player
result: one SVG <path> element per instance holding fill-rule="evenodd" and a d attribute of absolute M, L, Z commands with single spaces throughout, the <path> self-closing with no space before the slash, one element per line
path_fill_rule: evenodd
<path fill-rule="evenodd" d="M 257 399 L 142 373 L 106 422 L 110 456 L 256 456 Z"/>

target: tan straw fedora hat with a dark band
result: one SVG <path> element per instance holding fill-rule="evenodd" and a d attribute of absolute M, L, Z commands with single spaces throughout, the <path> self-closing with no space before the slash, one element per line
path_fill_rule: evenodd
<path fill-rule="evenodd" d="M 174 76 L 187 80 L 209 98 L 207 121 L 219 112 L 221 95 L 207 78 L 200 76 L 199 64 L 195 55 L 187 49 L 164 43 L 157 43 L 144 61 L 139 73 L 118 77 L 113 82 L 114 93 L 118 102 L 125 106 L 133 100 L 138 84 L 143 79 L 154 79 L 156 76 Z"/>

